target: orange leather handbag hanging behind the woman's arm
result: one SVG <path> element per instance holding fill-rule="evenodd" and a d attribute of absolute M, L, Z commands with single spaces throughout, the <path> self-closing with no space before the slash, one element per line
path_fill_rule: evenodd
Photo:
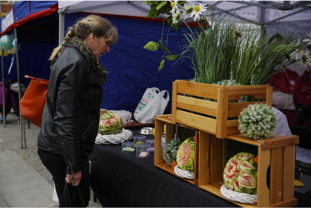
<path fill-rule="evenodd" d="M 21 115 L 40 127 L 49 81 L 28 75 L 25 75 L 25 77 L 32 80 L 20 101 Z"/>

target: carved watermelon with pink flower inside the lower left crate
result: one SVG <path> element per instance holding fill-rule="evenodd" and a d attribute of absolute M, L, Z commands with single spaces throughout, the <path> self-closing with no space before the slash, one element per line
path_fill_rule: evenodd
<path fill-rule="evenodd" d="M 193 137 L 189 137 L 181 143 L 176 154 L 176 162 L 180 169 L 188 171 L 194 170 L 194 149 L 195 141 Z"/>

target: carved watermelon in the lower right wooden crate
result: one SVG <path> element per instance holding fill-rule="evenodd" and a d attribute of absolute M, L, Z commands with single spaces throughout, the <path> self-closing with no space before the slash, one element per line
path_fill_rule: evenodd
<path fill-rule="evenodd" d="M 235 192 L 257 194 L 257 164 L 254 155 L 240 152 L 229 159 L 224 170 L 227 189 Z"/>

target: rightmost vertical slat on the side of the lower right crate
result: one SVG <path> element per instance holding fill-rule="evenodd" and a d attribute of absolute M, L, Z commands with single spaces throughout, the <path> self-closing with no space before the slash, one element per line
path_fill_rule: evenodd
<path fill-rule="evenodd" d="M 295 145 L 283 149 L 283 201 L 294 198 Z"/>

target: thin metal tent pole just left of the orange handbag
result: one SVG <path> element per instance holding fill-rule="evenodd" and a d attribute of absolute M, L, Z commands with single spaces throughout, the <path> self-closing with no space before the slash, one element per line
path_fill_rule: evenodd
<path fill-rule="evenodd" d="M 17 31 L 14 28 L 15 44 L 16 44 L 16 67 L 17 67 L 17 81 L 18 81 L 18 102 L 21 101 L 21 74 L 19 68 L 19 57 L 18 57 L 18 40 L 17 40 Z M 26 148 L 26 134 L 25 134 L 25 123 L 24 118 L 21 116 L 20 110 L 20 126 L 21 126 L 21 149 Z M 25 147 L 23 147 L 23 139 L 25 142 Z"/>

